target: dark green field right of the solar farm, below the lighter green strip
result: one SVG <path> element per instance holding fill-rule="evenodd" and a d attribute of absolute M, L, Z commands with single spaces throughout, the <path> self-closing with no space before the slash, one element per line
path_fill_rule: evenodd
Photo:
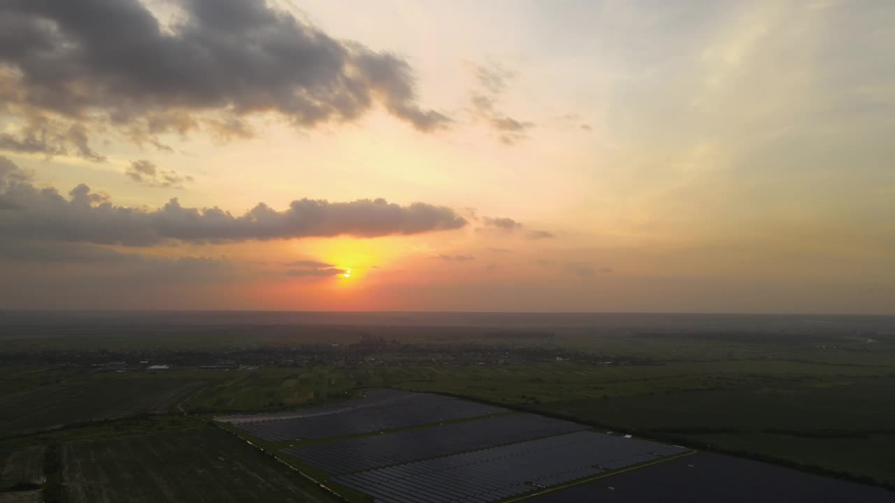
<path fill-rule="evenodd" d="M 775 387 L 688 390 L 605 400 L 556 402 L 545 408 L 638 431 L 775 431 L 848 436 L 895 431 L 892 378 L 852 378 L 838 386 L 801 382 Z"/>

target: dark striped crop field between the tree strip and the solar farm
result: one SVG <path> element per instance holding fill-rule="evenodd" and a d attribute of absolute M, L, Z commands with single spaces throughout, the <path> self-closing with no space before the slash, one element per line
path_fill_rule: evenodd
<path fill-rule="evenodd" d="M 329 501 L 258 449 L 212 427 L 61 445 L 64 501 Z"/>

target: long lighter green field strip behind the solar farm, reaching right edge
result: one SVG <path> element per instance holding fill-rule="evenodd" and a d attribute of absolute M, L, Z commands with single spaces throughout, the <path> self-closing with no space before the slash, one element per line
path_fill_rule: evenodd
<path fill-rule="evenodd" d="M 386 384 L 414 391 L 477 396 L 506 403 L 575 401 L 603 396 L 658 396 L 692 390 L 835 387 L 889 376 L 890 367 L 805 362 L 670 362 L 596 366 L 571 362 L 383 371 Z"/>

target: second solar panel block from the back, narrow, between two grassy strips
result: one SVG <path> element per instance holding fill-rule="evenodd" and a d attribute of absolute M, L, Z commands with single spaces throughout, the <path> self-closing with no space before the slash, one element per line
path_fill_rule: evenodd
<path fill-rule="evenodd" d="M 519 413 L 423 430 L 288 448 L 283 452 L 300 457 L 305 463 L 320 470 L 341 474 L 540 439 L 587 428 L 576 422 L 560 421 L 533 413 Z"/>

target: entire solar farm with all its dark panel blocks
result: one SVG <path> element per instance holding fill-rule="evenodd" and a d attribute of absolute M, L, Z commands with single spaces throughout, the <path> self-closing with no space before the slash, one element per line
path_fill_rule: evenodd
<path fill-rule="evenodd" d="M 296 413 L 216 420 L 260 439 L 277 456 L 358 502 L 627 503 L 675 493 L 687 501 L 738 502 L 754 500 L 755 493 L 752 499 L 728 498 L 731 488 L 750 493 L 756 484 L 783 495 L 780 501 L 818 500 L 818 490 L 850 496 L 864 491 L 865 501 L 891 496 L 773 465 L 592 431 L 576 422 L 391 389 Z"/>

